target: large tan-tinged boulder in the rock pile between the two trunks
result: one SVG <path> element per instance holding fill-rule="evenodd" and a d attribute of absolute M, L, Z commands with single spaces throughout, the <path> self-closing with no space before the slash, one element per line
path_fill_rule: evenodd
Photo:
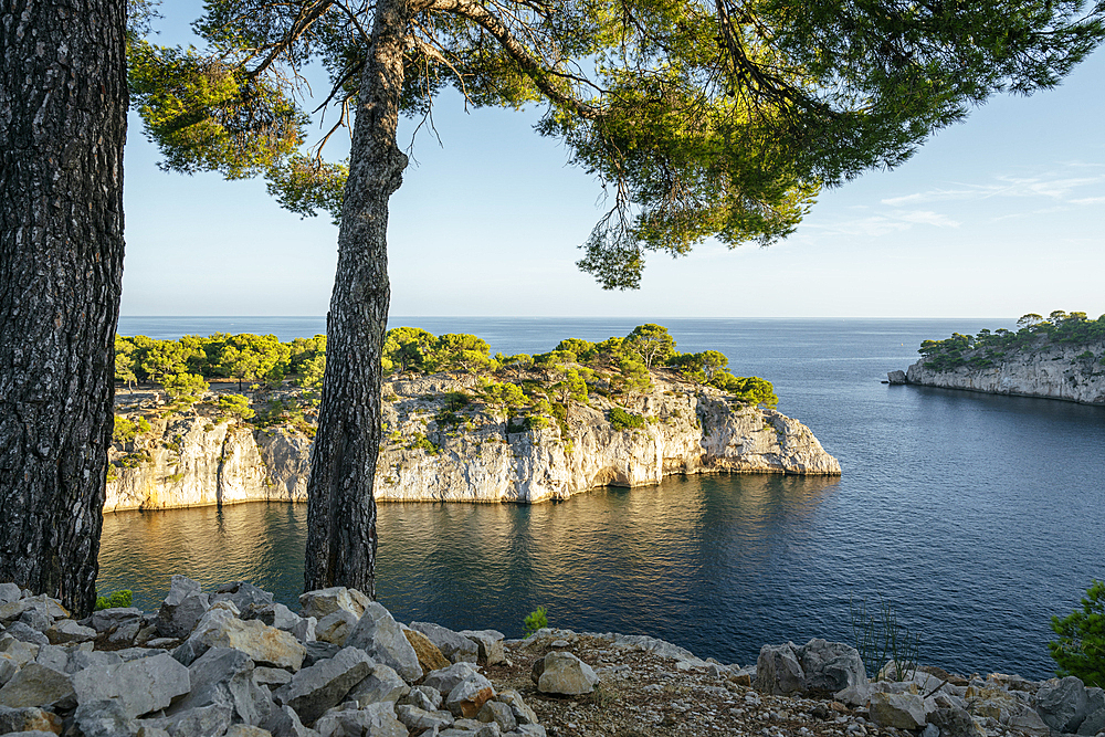
<path fill-rule="evenodd" d="M 188 641 L 173 652 L 185 665 L 191 665 L 208 647 L 241 650 L 260 665 L 297 671 L 307 654 L 306 647 L 288 632 L 264 622 L 243 622 L 229 611 L 212 607 L 203 614 Z"/>

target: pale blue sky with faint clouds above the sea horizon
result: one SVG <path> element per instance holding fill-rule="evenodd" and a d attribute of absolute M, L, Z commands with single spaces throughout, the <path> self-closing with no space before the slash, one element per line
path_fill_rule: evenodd
<path fill-rule="evenodd" d="M 156 23 L 187 43 L 191 3 Z M 192 15 L 194 17 L 194 15 Z M 994 317 L 1105 314 L 1105 51 L 1054 90 L 991 98 L 905 165 L 822 192 L 786 241 L 650 254 L 642 288 L 608 292 L 578 246 L 601 188 L 541 138 L 536 109 L 433 110 L 400 127 L 412 165 L 391 199 L 393 316 Z M 440 143 L 439 139 L 440 138 Z M 157 168 L 131 113 L 122 313 L 324 315 L 327 215 L 282 210 L 263 181 Z"/>

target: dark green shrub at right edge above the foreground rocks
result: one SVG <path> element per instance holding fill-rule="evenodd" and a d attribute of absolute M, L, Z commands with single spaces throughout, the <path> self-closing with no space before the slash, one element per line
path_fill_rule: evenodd
<path fill-rule="evenodd" d="M 1105 581 L 1094 579 L 1082 608 L 1060 619 L 1051 618 L 1059 639 L 1048 643 L 1059 665 L 1059 677 L 1074 675 L 1087 686 L 1105 688 Z"/>

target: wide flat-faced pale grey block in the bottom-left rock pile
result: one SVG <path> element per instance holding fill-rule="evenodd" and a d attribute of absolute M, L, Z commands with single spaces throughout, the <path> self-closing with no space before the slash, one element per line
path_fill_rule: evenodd
<path fill-rule="evenodd" d="M 117 701 L 129 717 L 162 709 L 190 687 L 188 668 L 168 654 L 87 667 L 73 676 L 78 704 Z"/>

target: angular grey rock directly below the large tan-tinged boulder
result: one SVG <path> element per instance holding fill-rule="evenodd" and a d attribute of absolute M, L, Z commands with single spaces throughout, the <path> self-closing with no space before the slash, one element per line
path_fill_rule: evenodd
<path fill-rule="evenodd" d="M 201 706 L 229 706 L 232 718 L 259 725 L 274 708 L 269 691 L 253 680 L 254 665 L 245 653 L 211 647 L 188 667 L 192 688 L 167 714 Z"/>

